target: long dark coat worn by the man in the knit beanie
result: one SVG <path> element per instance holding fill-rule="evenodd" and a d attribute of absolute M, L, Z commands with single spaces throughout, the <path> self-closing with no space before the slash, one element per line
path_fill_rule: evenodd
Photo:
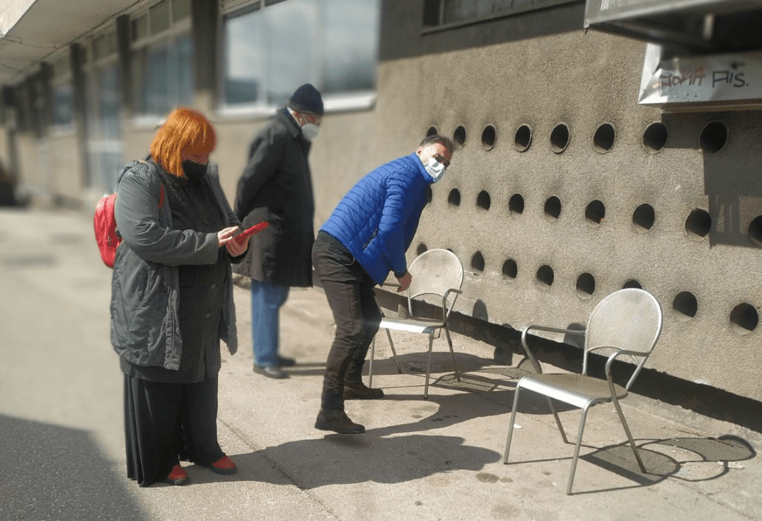
<path fill-rule="evenodd" d="M 312 286 L 315 200 L 309 147 L 285 108 L 251 142 L 235 214 L 245 227 L 263 220 L 270 226 L 251 237 L 236 273 L 274 285 Z"/>

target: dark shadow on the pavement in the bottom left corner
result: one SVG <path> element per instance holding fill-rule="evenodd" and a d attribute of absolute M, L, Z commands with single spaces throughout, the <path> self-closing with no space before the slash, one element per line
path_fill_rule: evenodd
<path fill-rule="evenodd" d="M 149 519 L 91 433 L 5 415 L 0 433 L 0 519 Z"/>

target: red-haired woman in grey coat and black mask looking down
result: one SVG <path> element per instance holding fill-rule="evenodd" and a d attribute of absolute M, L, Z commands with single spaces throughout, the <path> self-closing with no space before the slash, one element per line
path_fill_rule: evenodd
<path fill-rule="evenodd" d="M 217 375 L 219 341 L 237 349 L 230 264 L 248 239 L 234 238 L 240 222 L 209 164 L 215 146 L 207 118 L 178 108 L 117 188 L 111 343 L 124 373 L 127 476 L 142 487 L 187 481 L 181 459 L 237 470 L 217 442 Z"/>

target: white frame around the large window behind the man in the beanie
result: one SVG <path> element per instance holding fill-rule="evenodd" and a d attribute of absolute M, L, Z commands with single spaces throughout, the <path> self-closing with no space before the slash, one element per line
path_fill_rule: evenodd
<path fill-rule="evenodd" d="M 246 119 L 255 118 L 261 119 L 273 116 L 280 105 L 274 105 L 267 101 L 261 101 L 256 103 L 243 103 L 230 105 L 225 101 L 225 80 L 226 80 L 226 59 L 228 49 L 226 48 L 226 20 L 229 18 L 236 18 L 239 16 L 245 16 L 246 14 L 261 11 L 262 9 L 270 8 L 272 5 L 280 2 L 286 2 L 287 0 L 219 0 L 219 20 L 218 20 L 218 56 L 217 63 L 217 95 L 216 95 L 216 114 L 220 117 L 226 117 L 230 119 Z M 383 7 L 383 0 L 379 1 L 379 12 L 377 20 L 378 32 L 377 38 L 377 50 L 380 48 L 381 37 L 381 8 Z M 379 60 L 376 56 L 376 71 L 378 70 Z M 325 114 L 341 113 L 346 111 L 370 111 L 376 106 L 376 99 L 378 98 L 378 85 L 373 90 L 337 93 L 323 95 L 323 108 Z"/>

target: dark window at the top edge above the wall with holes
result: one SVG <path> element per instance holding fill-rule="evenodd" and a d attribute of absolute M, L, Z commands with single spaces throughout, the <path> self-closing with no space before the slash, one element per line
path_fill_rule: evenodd
<path fill-rule="evenodd" d="M 424 28 L 456 26 L 577 0 L 424 0 Z"/>

